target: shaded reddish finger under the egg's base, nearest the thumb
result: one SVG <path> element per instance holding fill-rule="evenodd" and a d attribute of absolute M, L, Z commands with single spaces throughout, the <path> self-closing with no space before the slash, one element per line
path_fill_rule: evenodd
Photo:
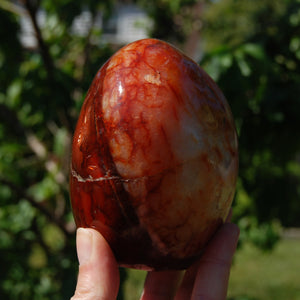
<path fill-rule="evenodd" d="M 181 278 L 181 271 L 148 272 L 141 300 L 174 299 Z"/>

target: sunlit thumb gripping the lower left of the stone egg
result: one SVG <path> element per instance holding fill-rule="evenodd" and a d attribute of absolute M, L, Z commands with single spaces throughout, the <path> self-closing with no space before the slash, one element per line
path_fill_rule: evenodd
<path fill-rule="evenodd" d="M 119 290 L 119 268 L 104 239 L 94 229 L 79 228 L 76 236 L 79 274 L 71 300 L 112 300 Z"/>

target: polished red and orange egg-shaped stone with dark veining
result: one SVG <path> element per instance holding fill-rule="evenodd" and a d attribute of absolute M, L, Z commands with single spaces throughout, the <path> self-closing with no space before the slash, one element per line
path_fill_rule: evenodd
<path fill-rule="evenodd" d="M 179 50 L 139 40 L 98 71 L 74 134 L 71 201 L 121 266 L 187 268 L 224 222 L 237 171 L 230 108 Z"/>

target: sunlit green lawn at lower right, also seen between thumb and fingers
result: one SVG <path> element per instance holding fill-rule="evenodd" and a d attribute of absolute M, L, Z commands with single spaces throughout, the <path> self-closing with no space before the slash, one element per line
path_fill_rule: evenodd
<path fill-rule="evenodd" d="M 124 300 L 138 300 L 146 272 L 127 270 Z M 230 300 L 300 300 L 300 241 L 281 240 L 265 253 L 245 244 L 235 255 Z"/>

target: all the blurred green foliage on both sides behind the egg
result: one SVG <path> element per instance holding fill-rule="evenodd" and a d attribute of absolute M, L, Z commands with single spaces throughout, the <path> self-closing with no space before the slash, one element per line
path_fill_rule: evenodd
<path fill-rule="evenodd" d="M 94 26 L 85 35 L 71 26 L 82 10 L 91 12 L 91 24 L 98 11 L 109 17 L 115 2 L 0 1 L 1 299 L 68 299 L 74 292 L 71 137 L 93 76 L 121 45 L 105 43 Z M 200 64 L 237 124 L 241 241 L 271 249 L 281 225 L 300 225 L 300 1 L 133 2 L 153 19 L 152 36 L 187 52 L 201 42 Z M 37 37 L 33 49 L 20 43 L 23 15 Z"/>

